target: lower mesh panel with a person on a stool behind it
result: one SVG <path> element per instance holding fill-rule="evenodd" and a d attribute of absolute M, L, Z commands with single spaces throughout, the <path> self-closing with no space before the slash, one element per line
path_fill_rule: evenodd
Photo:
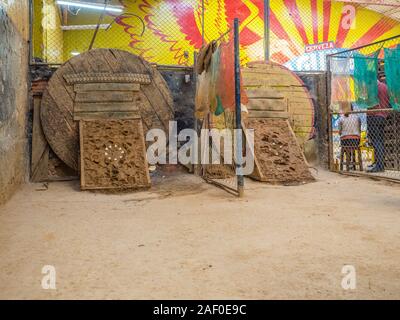
<path fill-rule="evenodd" d="M 334 170 L 400 180 L 399 112 L 334 113 L 332 125 Z"/>

